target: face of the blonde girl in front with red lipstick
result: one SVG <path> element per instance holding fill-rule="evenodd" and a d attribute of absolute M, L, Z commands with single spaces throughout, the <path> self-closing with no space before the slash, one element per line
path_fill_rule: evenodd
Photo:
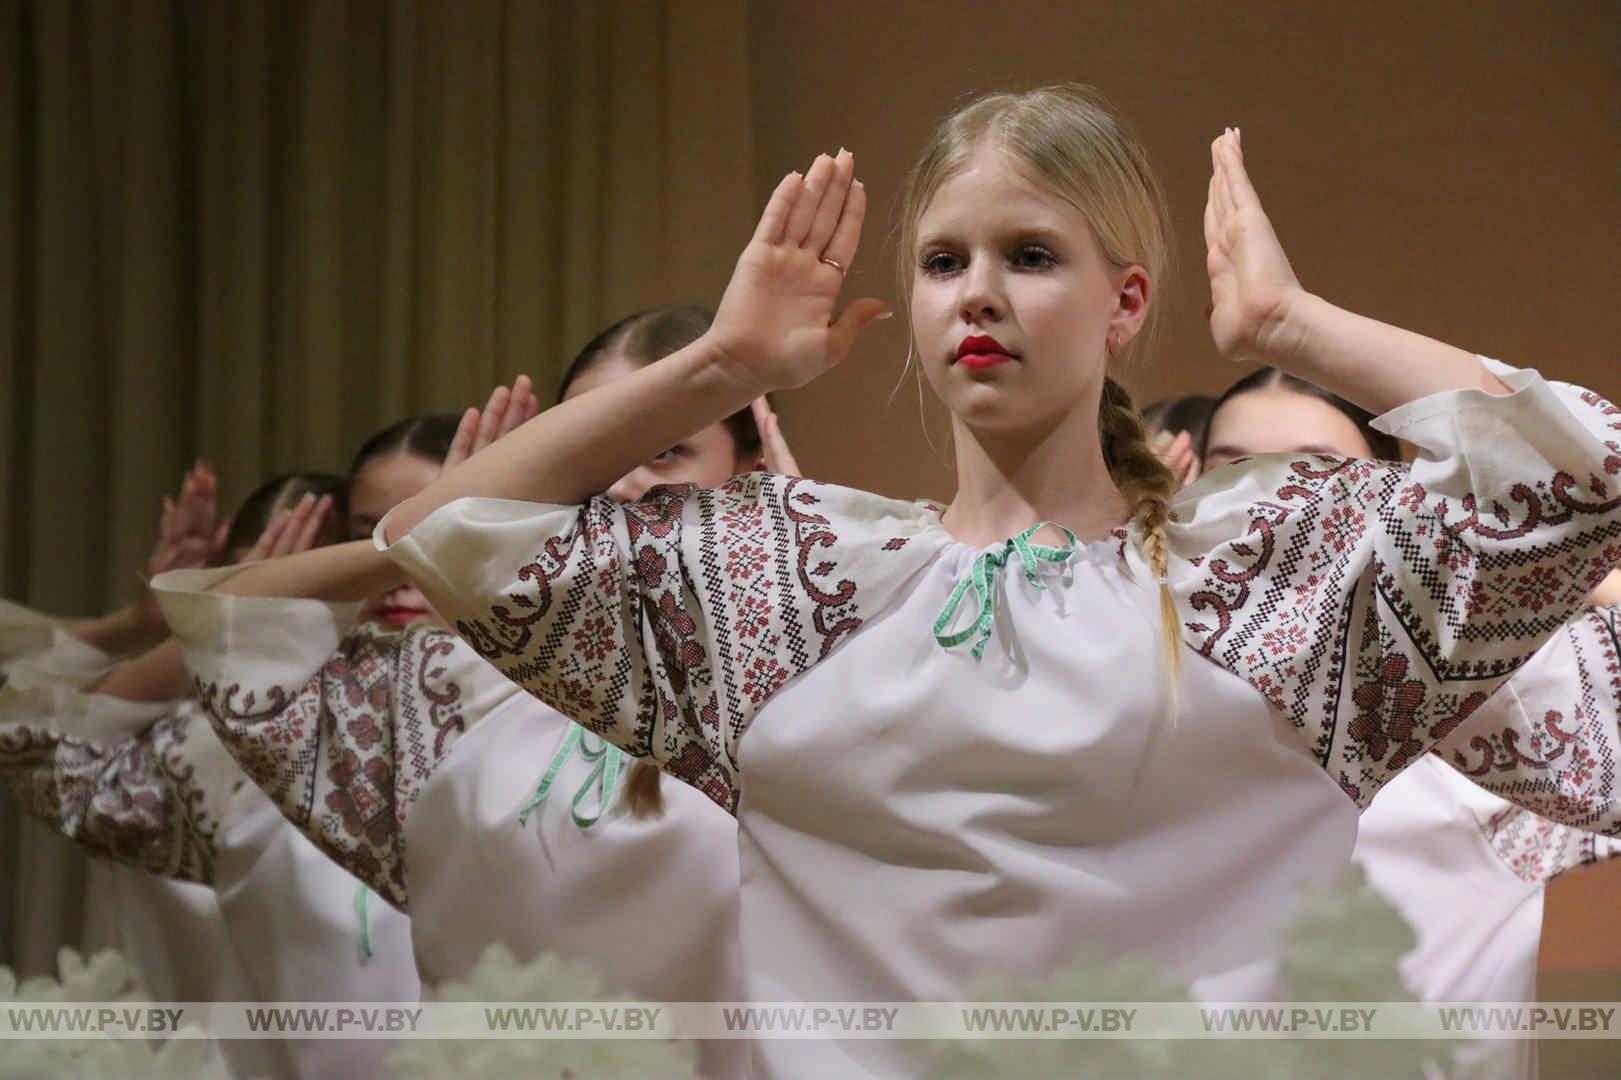
<path fill-rule="evenodd" d="M 981 146 L 917 221 L 913 339 L 971 428 L 1021 430 L 1096 409 L 1109 347 L 1148 315 L 1148 274 L 1102 253 L 1086 216 Z"/>

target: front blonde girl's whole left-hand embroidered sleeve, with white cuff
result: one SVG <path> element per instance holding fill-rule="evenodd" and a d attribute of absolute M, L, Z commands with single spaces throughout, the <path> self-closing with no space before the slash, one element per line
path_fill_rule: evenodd
<path fill-rule="evenodd" d="M 631 504 L 460 499 L 389 555 L 511 679 L 736 812 L 755 712 L 939 550 L 930 527 L 757 472 Z"/>

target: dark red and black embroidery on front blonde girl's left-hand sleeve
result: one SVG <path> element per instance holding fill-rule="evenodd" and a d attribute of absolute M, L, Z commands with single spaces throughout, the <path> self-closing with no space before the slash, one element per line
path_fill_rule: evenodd
<path fill-rule="evenodd" d="M 593 499 L 456 629 L 558 712 L 736 811 L 738 738 L 866 618 L 848 563 L 929 556 L 893 534 L 853 551 L 825 512 L 838 491 L 752 474 Z"/>

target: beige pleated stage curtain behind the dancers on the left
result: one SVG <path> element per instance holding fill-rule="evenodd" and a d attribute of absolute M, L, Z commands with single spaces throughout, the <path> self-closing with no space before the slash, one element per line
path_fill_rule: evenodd
<path fill-rule="evenodd" d="M 0 5 L 0 585 L 128 598 L 195 456 L 225 501 L 408 412 L 550 388 L 713 303 L 755 211 L 744 0 Z M 83 866 L 0 809 L 0 963 Z"/>

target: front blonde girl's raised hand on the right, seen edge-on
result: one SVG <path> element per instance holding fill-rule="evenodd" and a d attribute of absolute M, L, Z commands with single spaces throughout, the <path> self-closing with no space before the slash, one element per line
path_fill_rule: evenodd
<path fill-rule="evenodd" d="M 1211 143 L 1204 245 L 1211 336 L 1222 355 L 1276 358 L 1292 349 L 1289 316 L 1303 290 L 1250 185 L 1237 128 Z"/>

